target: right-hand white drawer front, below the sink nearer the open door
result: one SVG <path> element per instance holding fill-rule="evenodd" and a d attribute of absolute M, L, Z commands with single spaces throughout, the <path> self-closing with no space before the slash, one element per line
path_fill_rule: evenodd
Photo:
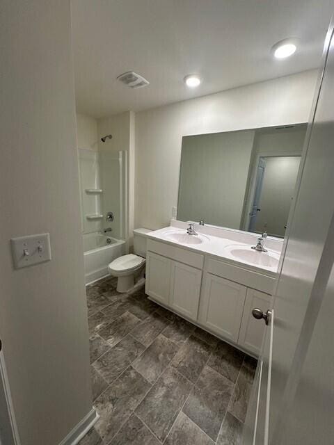
<path fill-rule="evenodd" d="M 259 289 L 262 292 L 271 293 L 273 291 L 275 278 L 253 272 L 253 270 L 232 266 L 232 264 L 224 263 L 213 258 L 207 259 L 206 270 L 208 273 L 212 273 L 218 277 Z"/>

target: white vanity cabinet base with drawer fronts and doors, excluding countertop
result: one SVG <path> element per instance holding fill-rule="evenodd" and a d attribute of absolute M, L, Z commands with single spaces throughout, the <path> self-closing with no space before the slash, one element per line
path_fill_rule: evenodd
<path fill-rule="evenodd" d="M 252 309 L 270 307 L 273 280 L 273 275 L 148 239 L 148 296 L 254 355 L 260 353 L 265 324 L 253 318 Z"/>

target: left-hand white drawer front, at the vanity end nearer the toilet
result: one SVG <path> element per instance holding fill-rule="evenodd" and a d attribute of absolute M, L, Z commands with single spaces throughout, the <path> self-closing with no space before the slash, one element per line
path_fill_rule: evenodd
<path fill-rule="evenodd" d="M 204 255 L 190 252 L 184 248 L 177 248 L 174 245 L 159 243 L 159 241 L 148 239 L 147 250 L 148 252 L 163 255 L 164 257 L 180 261 L 180 263 L 188 264 L 198 269 L 202 269 L 203 267 Z"/>

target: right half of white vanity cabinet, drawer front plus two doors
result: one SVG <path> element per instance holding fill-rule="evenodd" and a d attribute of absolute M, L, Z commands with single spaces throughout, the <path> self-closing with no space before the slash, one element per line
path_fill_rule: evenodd
<path fill-rule="evenodd" d="M 253 317 L 252 309 L 269 309 L 273 277 L 212 257 L 207 257 L 204 269 L 198 321 L 220 337 L 258 355 L 265 324 Z"/>

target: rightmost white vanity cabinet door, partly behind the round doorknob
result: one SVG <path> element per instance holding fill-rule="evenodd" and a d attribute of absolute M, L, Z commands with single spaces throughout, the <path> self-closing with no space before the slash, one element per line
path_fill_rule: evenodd
<path fill-rule="evenodd" d="M 266 325 L 259 323 L 252 315 L 252 309 L 258 307 L 266 312 L 271 296 L 267 293 L 247 289 L 246 302 L 244 306 L 244 314 L 241 321 L 241 329 L 239 334 L 239 345 L 249 350 L 251 353 L 258 355 L 262 345 L 262 339 Z"/>

